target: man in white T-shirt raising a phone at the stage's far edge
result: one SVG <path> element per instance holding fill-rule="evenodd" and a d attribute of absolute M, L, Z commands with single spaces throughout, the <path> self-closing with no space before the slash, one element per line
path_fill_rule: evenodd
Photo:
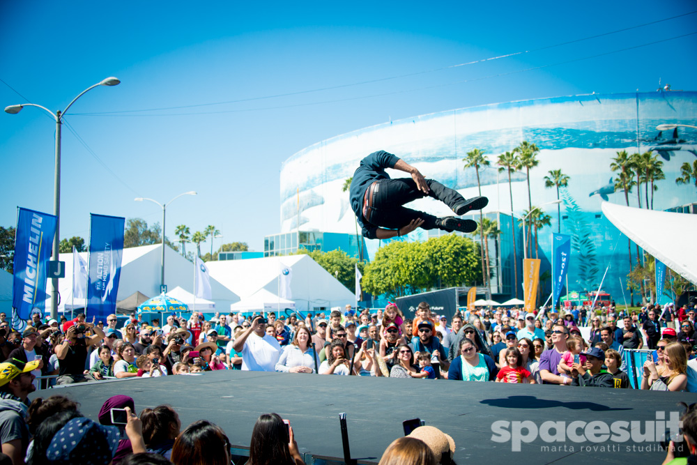
<path fill-rule="evenodd" d="M 252 372 L 273 372 L 281 356 L 275 337 L 266 334 L 268 319 L 257 315 L 249 328 L 240 333 L 232 348 L 242 355 L 242 369 Z"/>

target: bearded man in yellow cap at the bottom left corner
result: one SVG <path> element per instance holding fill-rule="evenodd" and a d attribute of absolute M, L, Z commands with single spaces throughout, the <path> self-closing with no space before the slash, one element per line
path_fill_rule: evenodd
<path fill-rule="evenodd" d="M 29 428 L 24 421 L 29 408 L 26 397 L 36 389 L 31 372 L 38 369 L 39 363 L 0 363 L 0 444 L 13 464 L 24 464 L 29 446 Z"/>

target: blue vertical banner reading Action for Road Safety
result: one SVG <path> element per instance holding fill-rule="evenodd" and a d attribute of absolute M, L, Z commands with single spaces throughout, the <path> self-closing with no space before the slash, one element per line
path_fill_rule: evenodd
<path fill-rule="evenodd" d="M 116 311 L 125 218 L 90 215 L 86 317 L 104 320 Z"/>

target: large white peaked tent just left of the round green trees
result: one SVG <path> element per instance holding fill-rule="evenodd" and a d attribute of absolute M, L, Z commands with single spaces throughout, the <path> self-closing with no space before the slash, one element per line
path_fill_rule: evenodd
<path fill-rule="evenodd" d="M 281 264 L 291 268 L 291 300 L 302 312 L 319 312 L 331 307 L 355 305 L 355 294 L 319 266 L 309 255 L 286 255 L 261 259 L 209 261 L 210 276 L 240 298 L 266 289 L 279 294 Z M 272 300 L 271 303 L 273 303 Z M 219 306 L 219 308 L 223 308 Z M 285 307 L 282 307 L 285 308 Z"/>

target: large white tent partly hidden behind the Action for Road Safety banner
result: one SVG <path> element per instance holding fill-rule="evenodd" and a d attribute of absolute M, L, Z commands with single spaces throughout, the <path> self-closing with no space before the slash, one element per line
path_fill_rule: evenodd
<path fill-rule="evenodd" d="M 87 252 L 79 252 L 79 254 L 87 261 Z M 171 247 L 165 248 L 164 259 L 164 282 L 167 284 L 168 289 L 181 287 L 187 292 L 193 292 L 194 264 L 171 249 Z M 70 311 L 70 305 L 72 305 L 72 252 L 61 254 L 60 260 L 66 264 L 66 277 L 59 280 L 59 292 L 61 295 L 59 312 L 66 307 Z M 124 249 L 121 259 L 121 279 L 118 283 L 116 300 L 123 300 L 136 291 L 141 291 L 146 296 L 158 296 L 160 294 L 161 270 L 162 248 L 160 248 L 160 244 Z M 218 308 L 227 308 L 231 303 L 236 303 L 240 300 L 237 294 L 220 284 L 220 282 L 217 282 L 213 277 L 210 278 L 210 290 L 213 294 L 210 300 Z M 199 299 L 196 301 L 198 307 Z M 49 300 L 47 300 L 47 305 L 47 308 L 50 308 Z M 79 307 L 77 299 L 75 299 L 75 307 Z M 84 307 L 84 303 L 82 307 Z M 199 309 L 197 308 L 197 310 Z"/>

